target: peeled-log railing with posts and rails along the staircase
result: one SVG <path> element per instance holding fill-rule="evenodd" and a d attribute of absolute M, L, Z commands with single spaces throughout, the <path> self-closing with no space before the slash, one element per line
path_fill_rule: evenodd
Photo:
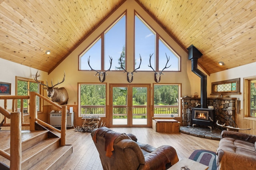
<path fill-rule="evenodd" d="M 50 104 L 62 109 L 62 123 L 61 123 L 61 130 L 56 129 L 55 127 L 45 123 L 44 121 L 37 118 L 37 110 L 36 110 L 36 96 L 39 96 L 43 100 L 46 100 Z M 16 100 L 21 100 L 21 111 L 15 111 L 15 103 Z M 23 100 L 30 99 L 30 123 L 23 123 Z M 10 127 L 10 154 L 5 152 L 4 150 L 0 149 L 0 155 L 4 156 L 10 160 L 10 170 L 21 170 L 21 163 L 22 163 L 22 140 L 21 140 L 21 127 L 22 126 L 30 126 L 30 131 L 35 130 L 35 122 L 55 130 L 60 133 L 60 145 L 66 145 L 66 113 L 67 113 L 67 106 L 59 106 L 55 104 L 48 98 L 37 94 L 36 92 L 30 92 L 30 96 L 0 96 L 0 100 L 4 100 L 4 107 L 0 106 L 0 113 L 4 115 L 4 123 L 2 126 L 9 126 Z M 12 100 L 12 113 L 7 111 L 7 100 Z M 11 123 L 6 123 L 6 118 L 11 119 Z"/>

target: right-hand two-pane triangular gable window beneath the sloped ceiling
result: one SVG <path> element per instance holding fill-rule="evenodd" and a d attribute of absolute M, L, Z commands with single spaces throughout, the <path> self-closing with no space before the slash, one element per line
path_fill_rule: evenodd
<path fill-rule="evenodd" d="M 180 57 L 174 53 L 171 47 L 154 32 L 153 29 L 142 20 L 140 16 L 135 15 L 135 68 L 140 64 L 140 56 L 142 63 L 138 70 L 152 70 L 148 66 L 150 55 L 152 55 L 150 63 L 155 71 L 161 71 L 165 66 L 164 71 L 179 71 Z M 167 58 L 166 58 L 167 56 Z M 170 57 L 170 59 L 169 59 Z M 167 59 L 169 59 L 168 64 Z"/>

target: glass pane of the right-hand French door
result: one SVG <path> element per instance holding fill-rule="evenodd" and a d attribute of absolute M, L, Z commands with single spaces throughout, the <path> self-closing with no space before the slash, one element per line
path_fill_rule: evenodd
<path fill-rule="evenodd" d="M 132 124 L 147 125 L 147 88 L 132 88 Z"/>

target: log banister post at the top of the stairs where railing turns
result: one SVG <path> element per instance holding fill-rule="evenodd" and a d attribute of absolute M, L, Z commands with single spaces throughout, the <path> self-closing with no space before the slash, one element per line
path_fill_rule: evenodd
<path fill-rule="evenodd" d="M 29 103 L 29 123 L 30 123 L 30 131 L 35 130 L 35 121 L 37 118 L 36 111 L 36 92 L 30 92 L 30 103 Z"/>

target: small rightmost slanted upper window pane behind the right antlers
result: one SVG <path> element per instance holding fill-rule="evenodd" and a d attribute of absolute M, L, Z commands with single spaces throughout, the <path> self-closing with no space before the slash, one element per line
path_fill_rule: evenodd
<path fill-rule="evenodd" d="M 170 57 L 170 60 L 167 64 L 167 67 L 170 66 L 169 68 L 166 68 L 164 70 L 171 70 L 171 71 L 178 71 L 180 70 L 180 64 L 179 64 L 179 57 L 177 57 L 172 51 L 159 39 L 159 71 L 161 71 L 167 62 L 167 57 Z"/>

